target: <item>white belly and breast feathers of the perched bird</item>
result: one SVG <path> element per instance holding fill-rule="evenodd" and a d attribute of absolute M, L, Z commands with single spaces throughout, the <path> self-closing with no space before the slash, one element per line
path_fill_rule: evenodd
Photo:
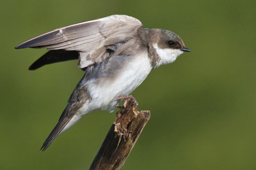
<path fill-rule="evenodd" d="M 126 96 L 136 89 L 152 69 L 147 53 L 134 57 L 125 64 L 115 78 L 88 82 L 88 90 L 97 106 L 95 109 L 109 110 L 113 108 L 116 97 Z M 99 108 L 98 108 L 99 106 Z"/>

